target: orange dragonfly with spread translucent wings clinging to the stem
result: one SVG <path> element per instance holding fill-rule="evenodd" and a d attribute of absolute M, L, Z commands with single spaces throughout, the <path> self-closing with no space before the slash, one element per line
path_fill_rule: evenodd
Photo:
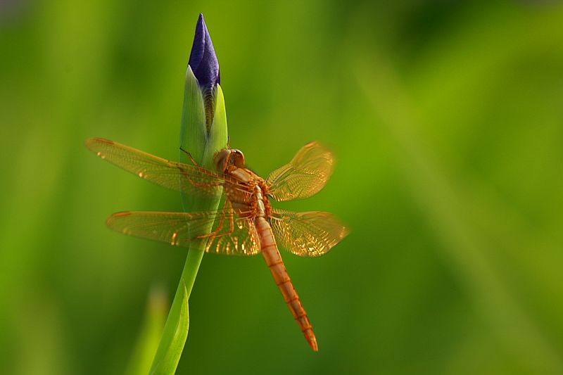
<path fill-rule="evenodd" d="M 178 163 L 107 139 L 87 139 L 86 146 L 103 160 L 167 189 L 196 198 L 221 196 L 217 210 L 116 212 L 106 224 L 122 234 L 172 246 L 189 248 L 194 241 L 207 241 L 207 253 L 262 253 L 305 339 L 318 351 L 310 319 L 278 247 L 301 257 L 318 257 L 346 237 L 349 229 L 329 212 L 279 210 L 272 208 L 270 200 L 291 201 L 318 193 L 334 170 L 334 156 L 327 148 L 317 142 L 306 144 L 290 163 L 262 179 L 234 148 L 215 154 L 213 171 L 198 165 L 189 153 L 189 162 Z"/>

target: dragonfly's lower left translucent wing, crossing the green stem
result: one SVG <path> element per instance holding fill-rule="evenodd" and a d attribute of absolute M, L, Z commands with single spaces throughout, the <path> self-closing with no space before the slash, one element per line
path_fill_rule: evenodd
<path fill-rule="evenodd" d="M 130 236 L 189 247 L 205 241 L 205 251 L 224 255 L 260 253 L 258 233 L 246 212 L 235 212 L 230 205 L 208 212 L 117 212 L 108 217 L 110 229 Z M 210 233 L 205 234 L 213 222 Z"/>

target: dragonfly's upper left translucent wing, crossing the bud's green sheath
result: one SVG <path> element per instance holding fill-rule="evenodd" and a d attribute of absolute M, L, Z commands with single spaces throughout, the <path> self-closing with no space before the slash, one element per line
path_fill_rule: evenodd
<path fill-rule="evenodd" d="M 195 164 L 176 163 L 129 146 L 91 138 L 86 146 L 103 160 L 167 189 L 216 196 L 224 184 L 248 193 L 241 182 Z"/>

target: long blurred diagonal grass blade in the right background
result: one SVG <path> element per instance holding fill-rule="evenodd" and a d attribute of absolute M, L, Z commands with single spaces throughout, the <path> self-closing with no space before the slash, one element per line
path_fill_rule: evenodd
<path fill-rule="evenodd" d="M 460 198 L 462 189 L 448 179 L 430 151 L 417 141 L 414 129 L 420 126 L 398 74 L 382 58 L 371 58 L 361 66 L 363 69 L 357 72 L 360 87 L 372 103 L 374 114 L 381 117 L 396 142 L 407 182 L 429 221 L 436 226 L 444 245 L 439 249 L 453 267 L 453 274 L 498 339 L 516 353 L 521 366 L 527 367 L 530 374 L 563 374 L 560 353 L 514 298 L 491 261 L 486 241 L 470 224 L 469 207 L 464 207 L 467 199 Z"/>

